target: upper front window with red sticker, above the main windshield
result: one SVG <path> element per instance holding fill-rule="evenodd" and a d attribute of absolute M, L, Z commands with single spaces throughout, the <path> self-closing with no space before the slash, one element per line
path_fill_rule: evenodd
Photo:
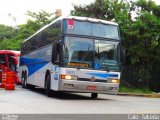
<path fill-rule="evenodd" d="M 67 34 L 87 35 L 119 40 L 118 27 L 115 25 L 93 23 L 88 21 L 64 21 L 64 32 Z"/>

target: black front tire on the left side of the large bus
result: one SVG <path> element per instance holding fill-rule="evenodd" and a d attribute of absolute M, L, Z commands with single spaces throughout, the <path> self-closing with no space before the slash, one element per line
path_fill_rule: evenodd
<path fill-rule="evenodd" d="M 51 97 L 52 96 L 52 91 L 50 89 L 50 86 L 51 86 L 51 76 L 50 75 L 47 75 L 46 77 L 46 95 L 48 97 Z"/>

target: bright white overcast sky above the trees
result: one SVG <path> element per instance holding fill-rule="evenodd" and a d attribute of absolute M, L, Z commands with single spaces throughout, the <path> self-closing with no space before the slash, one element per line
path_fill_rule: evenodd
<path fill-rule="evenodd" d="M 0 1 L 0 24 L 16 26 L 24 24 L 29 18 L 27 10 L 38 12 L 44 10 L 54 13 L 55 9 L 62 9 L 63 15 L 69 15 L 73 9 L 72 4 L 89 4 L 94 0 L 1 0 Z M 160 4 L 160 0 L 153 0 Z"/>

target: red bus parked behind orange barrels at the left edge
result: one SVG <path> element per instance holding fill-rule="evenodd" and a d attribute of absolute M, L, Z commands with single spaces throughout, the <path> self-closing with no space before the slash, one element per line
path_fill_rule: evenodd
<path fill-rule="evenodd" d="M 2 82 L 2 74 L 4 72 L 12 72 L 14 74 L 14 82 L 20 83 L 17 72 L 19 57 L 20 51 L 0 50 L 0 82 Z"/>

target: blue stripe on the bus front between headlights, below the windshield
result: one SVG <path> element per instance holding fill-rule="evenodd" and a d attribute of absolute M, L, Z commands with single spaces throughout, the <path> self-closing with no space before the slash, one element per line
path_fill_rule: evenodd
<path fill-rule="evenodd" d="M 111 73 L 87 73 L 88 75 L 93 75 L 101 78 L 108 78 L 108 77 L 118 77 L 118 74 L 111 74 Z"/>

